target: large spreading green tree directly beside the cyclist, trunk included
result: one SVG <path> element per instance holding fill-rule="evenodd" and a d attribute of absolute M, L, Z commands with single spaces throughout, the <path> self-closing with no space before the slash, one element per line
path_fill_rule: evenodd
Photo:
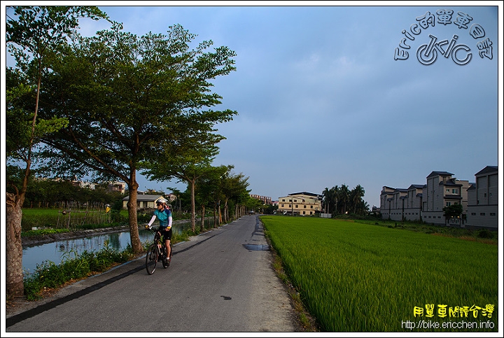
<path fill-rule="evenodd" d="M 143 250 L 137 171 L 167 159 L 165 153 L 181 153 L 187 140 L 220 139 L 214 125 L 236 114 L 204 110 L 221 104 L 209 80 L 235 71 L 235 52 L 223 46 L 209 52 L 212 41 L 190 50 L 194 38 L 180 25 L 166 35 L 137 36 L 114 22 L 96 36 L 75 36 L 71 53 L 55 59 L 48 74 L 43 112 L 68 118 L 69 126 L 43 138 L 45 154 L 58 171 L 91 171 L 127 183 L 135 253 Z"/>

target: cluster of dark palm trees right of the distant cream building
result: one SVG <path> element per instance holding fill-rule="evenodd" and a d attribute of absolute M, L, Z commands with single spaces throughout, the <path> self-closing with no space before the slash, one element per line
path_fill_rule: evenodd
<path fill-rule="evenodd" d="M 364 188 L 360 184 L 349 190 L 348 185 L 335 185 L 325 188 L 322 192 L 323 208 L 326 213 L 353 213 L 365 216 L 369 212 L 369 204 L 364 201 Z"/>

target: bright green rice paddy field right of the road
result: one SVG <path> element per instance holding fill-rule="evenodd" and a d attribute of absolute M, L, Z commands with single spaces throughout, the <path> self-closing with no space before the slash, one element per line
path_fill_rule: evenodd
<path fill-rule="evenodd" d="M 376 225 L 261 216 L 324 332 L 498 332 L 498 246 Z"/>

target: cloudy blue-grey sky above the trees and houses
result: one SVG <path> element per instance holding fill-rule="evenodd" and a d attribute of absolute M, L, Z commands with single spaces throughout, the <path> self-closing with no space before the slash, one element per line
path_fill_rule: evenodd
<path fill-rule="evenodd" d="M 238 113 L 216 126 L 226 139 L 214 165 L 234 165 L 235 174 L 248 177 L 251 194 L 278 200 L 361 185 L 371 208 L 379 206 L 383 186 L 425 184 L 432 171 L 474 182 L 484 167 L 500 166 L 500 1 L 116 3 L 92 4 L 138 36 L 181 24 L 197 34 L 195 43 L 211 40 L 237 53 L 237 70 L 212 81 L 223 97 L 214 110 Z M 425 28 L 423 16 L 431 17 Z M 80 34 L 109 27 L 87 20 Z M 435 59 L 435 52 L 422 56 L 430 41 L 437 43 Z M 186 189 L 144 176 L 138 181 L 139 190 Z"/>

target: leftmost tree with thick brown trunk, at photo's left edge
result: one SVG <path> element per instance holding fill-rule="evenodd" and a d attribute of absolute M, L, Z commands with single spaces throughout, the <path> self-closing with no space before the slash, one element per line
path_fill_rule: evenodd
<path fill-rule="evenodd" d="M 79 17 L 99 20 L 106 18 L 106 14 L 97 7 L 81 6 L 15 6 L 8 9 L 13 12 L 6 22 L 6 41 L 8 51 L 15 58 L 16 69 L 7 71 L 11 87 L 6 95 L 6 120 L 8 125 L 17 127 L 7 128 L 7 157 L 25 163 L 22 182 L 14 186 L 15 192 L 6 192 L 6 289 L 8 295 L 14 297 L 24 293 L 21 208 L 34 160 L 34 146 L 43 136 L 66 125 L 64 118 L 38 118 L 43 74 L 49 70 L 48 59 L 59 57 L 64 52 L 62 45 L 76 31 Z M 34 93 L 33 100 L 16 102 L 30 93 Z M 8 184 L 13 185 L 12 182 Z"/>

